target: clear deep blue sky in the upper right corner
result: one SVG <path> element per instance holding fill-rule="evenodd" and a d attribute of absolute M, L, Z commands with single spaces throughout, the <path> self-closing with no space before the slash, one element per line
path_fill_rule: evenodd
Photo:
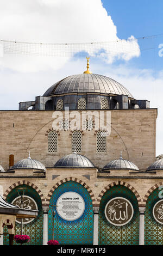
<path fill-rule="evenodd" d="M 156 72 L 162 69 L 162 59 L 158 56 L 158 45 L 163 42 L 162 0 L 102 0 L 117 26 L 117 36 L 128 38 L 131 34 L 135 38 L 161 34 L 158 38 L 139 40 L 141 48 L 152 48 L 141 52 L 141 56 L 131 60 L 131 65 L 143 69 L 153 69 Z"/>

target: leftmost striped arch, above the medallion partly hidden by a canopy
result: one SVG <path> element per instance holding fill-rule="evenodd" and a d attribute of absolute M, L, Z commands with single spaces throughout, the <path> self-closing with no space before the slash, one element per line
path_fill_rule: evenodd
<path fill-rule="evenodd" d="M 29 182 L 27 180 L 21 180 L 21 181 L 17 181 L 16 183 L 12 184 L 3 194 L 3 198 L 7 199 L 8 194 L 11 192 L 11 190 L 13 190 L 15 187 L 20 186 L 20 185 L 27 185 L 30 186 L 32 188 L 34 188 L 34 190 L 39 194 L 41 202 L 42 202 L 42 206 L 46 206 L 45 203 L 45 197 L 43 196 L 40 188 L 38 188 L 36 185 L 34 185 L 32 182 Z"/>

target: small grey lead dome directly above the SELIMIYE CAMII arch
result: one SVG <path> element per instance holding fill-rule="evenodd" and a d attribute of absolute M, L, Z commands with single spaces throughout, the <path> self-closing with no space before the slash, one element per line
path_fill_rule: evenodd
<path fill-rule="evenodd" d="M 55 168 L 96 168 L 94 164 L 86 157 L 77 153 L 73 153 L 59 159 L 55 164 Z"/>

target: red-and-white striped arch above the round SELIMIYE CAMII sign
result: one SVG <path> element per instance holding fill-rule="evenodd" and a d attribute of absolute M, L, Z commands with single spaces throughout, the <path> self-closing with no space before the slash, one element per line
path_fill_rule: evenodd
<path fill-rule="evenodd" d="M 79 184 L 81 184 L 82 186 L 84 186 L 87 190 L 87 192 L 89 192 L 90 196 L 91 196 L 91 199 L 92 199 L 92 206 L 96 206 L 96 199 L 95 199 L 95 196 L 91 190 L 91 188 L 82 180 L 79 180 L 77 178 L 73 178 L 73 177 L 69 177 L 69 178 L 65 178 L 65 179 L 62 179 L 60 180 L 59 182 L 57 182 L 52 188 L 51 190 L 49 191 L 48 193 L 48 196 L 47 196 L 47 199 L 46 199 L 46 206 L 49 206 L 49 203 L 50 203 L 50 200 L 51 200 L 51 197 L 52 197 L 52 194 L 54 192 L 54 190 L 56 190 L 57 187 L 59 187 L 61 184 L 67 182 L 67 181 L 75 181 Z"/>

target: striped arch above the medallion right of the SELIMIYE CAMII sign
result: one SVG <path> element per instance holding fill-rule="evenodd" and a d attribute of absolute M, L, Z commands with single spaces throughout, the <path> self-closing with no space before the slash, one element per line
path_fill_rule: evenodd
<path fill-rule="evenodd" d="M 122 185 L 122 186 L 125 186 L 125 187 L 128 187 L 129 190 L 131 190 L 134 194 L 135 194 L 135 197 L 137 198 L 137 203 L 139 205 L 139 207 L 142 206 L 142 203 L 141 203 L 141 197 L 139 195 L 139 193 L 135 190 L 135 188 L 133 186 L 131 186 L 130 184 L 128 184 L 127 182 L 124 182 L 124 181 L 115 181 L 115 182 L 112 182 L 110 183 L 108 186 L 104 187 L 103 190 L 99 193 L 98 195 L 98 198 L 97 198 L 97 205 L 96 206 L 99 206 L 100 203 L 101 203 L 101 199 L 104 195 L 104 193 L 109 190 L 109 188 L 113 187 L 113 186 L 116 186 L 116 185 Z"/>

